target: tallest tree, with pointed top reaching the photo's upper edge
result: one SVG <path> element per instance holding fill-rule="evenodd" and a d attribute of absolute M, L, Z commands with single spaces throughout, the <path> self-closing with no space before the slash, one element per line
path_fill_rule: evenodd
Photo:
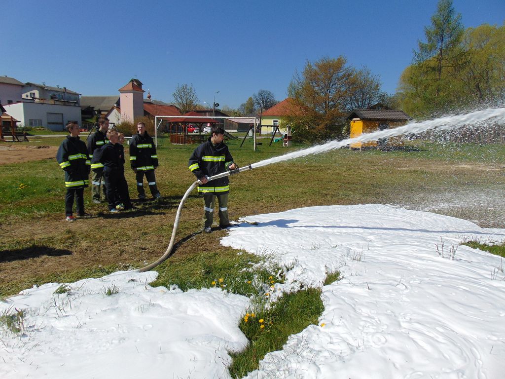
<path fill-rule="evenodd" d="M 456 15 L 452 0 L 439 0 L 431 17 L 431 26 L 424 29 L 426 42 L 418 42 L 413 65 L 401 75 L 403 109 L 414 115 L 440 112 L 458 103 L 461 83 L 455 73 L 466 62 L 461 40 L 464 27 Z"/>

